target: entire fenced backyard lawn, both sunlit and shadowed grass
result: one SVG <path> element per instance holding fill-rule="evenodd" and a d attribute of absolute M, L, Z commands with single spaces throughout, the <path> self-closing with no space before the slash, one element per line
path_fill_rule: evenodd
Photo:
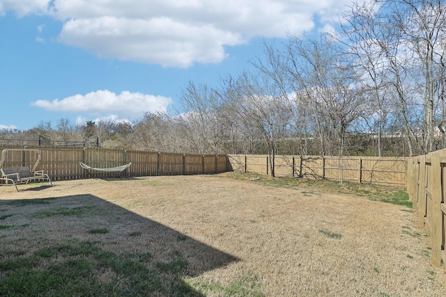
<path fill-rule="evenodd" d="M 446 296 L 403 188 L 213 176 L 0 187 L 0 296 Z"/>

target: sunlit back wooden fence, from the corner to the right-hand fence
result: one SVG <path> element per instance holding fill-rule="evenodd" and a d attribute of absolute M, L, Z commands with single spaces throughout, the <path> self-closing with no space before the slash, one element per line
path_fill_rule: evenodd
<path fill-rule="evenodd" d="M 268 155 L 228 155 L 233 170 L 268 175 Z M 406 185 L 406 158 L 369 156 L 275 156 L 275 176 Z"/>

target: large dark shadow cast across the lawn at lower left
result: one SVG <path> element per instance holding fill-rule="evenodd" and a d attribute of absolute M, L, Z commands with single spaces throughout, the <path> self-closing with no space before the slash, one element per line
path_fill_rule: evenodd
<path fill-rule="evenodd" d="M 239 261 L 93 195 L 1 200 L 0 216 L 0 296 L 202 296 L 185 277 Z"/>

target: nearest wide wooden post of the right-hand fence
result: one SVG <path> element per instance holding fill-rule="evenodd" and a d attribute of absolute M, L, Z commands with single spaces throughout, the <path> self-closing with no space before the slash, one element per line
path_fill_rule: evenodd
<path fill-rule="evenodd" d="M 441 163 L 440 155 L 433 153 L 431 156 L 431 191 L 432 191 L 432 257 L 431 263 L 435 267 L 441 265 L 441 245 L 443 241 L 443 212 L 441 211 L 442 198 Z"/>

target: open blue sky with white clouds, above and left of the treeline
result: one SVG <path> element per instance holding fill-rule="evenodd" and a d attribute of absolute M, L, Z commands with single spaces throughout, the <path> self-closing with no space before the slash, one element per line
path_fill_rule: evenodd
<path fill-rule="evenodd" d="M 180 111 L 263 42 L 332 29 L 351 0 L 0 0 L 0 129 Z"/>

